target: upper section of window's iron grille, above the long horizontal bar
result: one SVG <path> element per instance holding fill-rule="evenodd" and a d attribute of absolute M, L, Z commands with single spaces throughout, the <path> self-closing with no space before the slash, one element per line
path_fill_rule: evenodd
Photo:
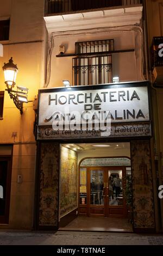
<path fill-rule="evenodd" d="M 114 51 L 114 39 L 76 42 L 76 55 L 108 51 Z"/>

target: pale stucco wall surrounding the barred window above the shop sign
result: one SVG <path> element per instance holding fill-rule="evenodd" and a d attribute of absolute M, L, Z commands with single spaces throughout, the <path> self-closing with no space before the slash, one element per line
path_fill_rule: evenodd
<path fill-rule="evenodd" d="M 112 54 L 112 76 L 119 76 L 120 82 L 141 81 L 142 76 L 142 35 L 141 30 L 117 28 L 93 29 L 86 31 L 64 32 L 53 34 L 53 50 L 51 55 L 51 72 L 48 87 L 62 86 L 62 80 L 69 80 L 72 84 L 72 58 L 56 57 L 59 46 L 64 45 L 65 54 L 75 52 L 75 42 L 90 40 L 114 39 L 115 50 L 135 49 L 134 52 Z M 74 56 L 75 57 L 75 56 Z"/>

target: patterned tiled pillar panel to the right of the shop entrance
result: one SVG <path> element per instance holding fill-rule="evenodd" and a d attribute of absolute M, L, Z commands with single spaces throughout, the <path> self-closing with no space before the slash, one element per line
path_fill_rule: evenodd
<path fill-rule="evenodd" d="M 149 141 L 131 142 L 134 228 L 154 229 L 151 151 Z"/>

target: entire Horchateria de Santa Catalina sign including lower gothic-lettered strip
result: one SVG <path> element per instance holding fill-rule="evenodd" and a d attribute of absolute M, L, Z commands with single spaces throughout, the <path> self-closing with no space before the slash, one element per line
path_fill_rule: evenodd
<path fill-rule="evenodd" d="M 38 139 L 102 136 L 151 136 L 147 86 L 40 90 Z"/>

